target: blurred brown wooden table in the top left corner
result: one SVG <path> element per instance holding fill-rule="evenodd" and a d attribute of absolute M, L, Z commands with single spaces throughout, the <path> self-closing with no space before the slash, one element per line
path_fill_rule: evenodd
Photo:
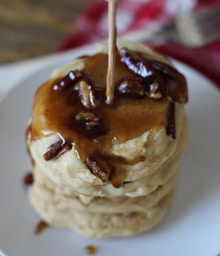
<path fill-rule="evenodd" d="M 0 64 L 55 51 L 91 0 L 1 0 Z"/>

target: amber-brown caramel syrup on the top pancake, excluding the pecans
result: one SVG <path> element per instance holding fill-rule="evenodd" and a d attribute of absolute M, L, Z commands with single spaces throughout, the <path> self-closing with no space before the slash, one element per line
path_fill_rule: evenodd
<path fill-rule="evenodd" d="M 83 73 L 99 88 L 105 88 L 108 56 L 97 54 L 85 59 Z M 102 63 L 102 64 L 100 64 Z M 117 58 L 116 84 L 134 76 L 127 66 Z M 37 91 L 32 113 L 32 139 L 58 133 L 76 145 L 79 157 L 85 161 L 94 152 L 105 153 L 114 143 L 123 143 L 146 131 L 165 126 L 167 101 L 153 99 L 116 98 L 113 105 L 104 103 L 104 98 L 95 109 L 86 109 L 74 89 L 53 90 L 59 79 L 49 80 Z M 106 134 L 95 139 L 77 122 L 80 111 L 95 112 L 102 118 Z"/>

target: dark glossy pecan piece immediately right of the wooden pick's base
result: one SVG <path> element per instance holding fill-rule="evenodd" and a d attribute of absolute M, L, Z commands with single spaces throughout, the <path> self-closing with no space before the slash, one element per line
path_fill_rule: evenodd
<path fill-rule="evenodd" d="M 141 98 L 145 95 L 141 81 L 135 79 L 125 79 L 121 81 L 116 88 L 116 93 L 118 96 L 131 98 Z"/>

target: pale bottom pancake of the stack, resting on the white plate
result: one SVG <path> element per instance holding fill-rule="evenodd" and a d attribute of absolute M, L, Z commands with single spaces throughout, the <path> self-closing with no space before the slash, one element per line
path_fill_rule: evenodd
<path fill-rule="evenodd" d="M 39 171 L 38 179 L 39 179 Z M 30 190 L 32 204 L 53 226 L 67 227 L 88 237 L 131 236 L 153 228 L 170 205 L 176 175 L 163 186 L 141 197 L 90 198 L 67 196 L 56 190 L 46 177 L 35 181 Z M 88 197 L 87 197 L 88 198 Z"/>

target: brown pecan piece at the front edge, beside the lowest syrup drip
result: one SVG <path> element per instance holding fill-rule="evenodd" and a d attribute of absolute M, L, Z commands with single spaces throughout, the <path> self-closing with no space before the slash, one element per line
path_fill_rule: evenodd
<path fill-rule="evenodd" d="M 111 168 L 102 156 L 95 155 L 87 157 L 86 164 L 96 177 L 101 179 L 103 182 L 109 181 Z"/>

